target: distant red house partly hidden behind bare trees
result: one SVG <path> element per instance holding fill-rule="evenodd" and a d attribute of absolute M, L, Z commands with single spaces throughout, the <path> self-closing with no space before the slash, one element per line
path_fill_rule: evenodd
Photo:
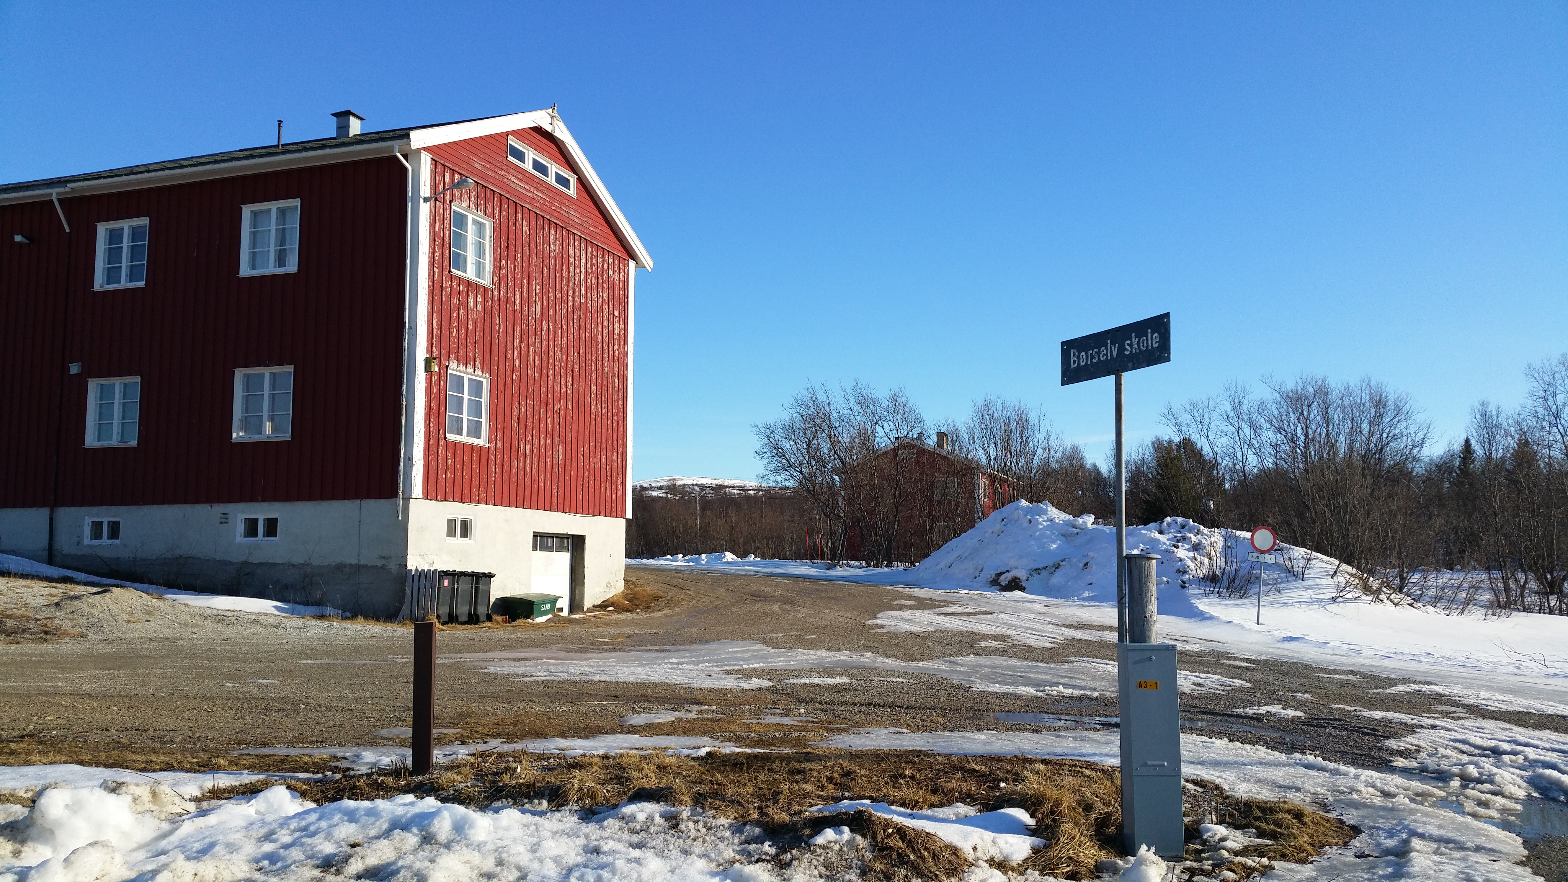
<path fill-rule="evenodd" d="M 847 556 L 917 563 L 1013 502 L 1013 480 L 955 454 L 947 433 L 900 438 L 845 479 Z"/>

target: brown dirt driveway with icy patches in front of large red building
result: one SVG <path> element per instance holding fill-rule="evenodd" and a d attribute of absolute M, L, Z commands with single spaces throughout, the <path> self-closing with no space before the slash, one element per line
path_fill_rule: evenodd
<path fill-rule="evenodd" d="M 1093 626 L 1052 645 L 1022 645 L 966 629 L 870 625 L 894 610 L 953 606 L 933 592 L 651 567 L 630 568 L 629 584 L 660 600 L 641 612 L 552 625 L 444 629 L 436 709 L 439 728 L 448 730 L 442 738 L 635 731 L 803 747 L 850 727 L 1043 731 L 1116 713 L 1113 689 L 1021 694 L 985 684 L 1011 665 L 1008 659 L 1102 681 L 1115 648 Z M 409 725 L 406 628 L 216 612 L 129 589 L 19 579 L 0 579 L 0 609 L 11 634 L 0 645 L 0 763 L 125 764 L 127 756 L 157 763 L 171 755 L 216 763 L 230 750 L 265 745 L 408 744 L 395 731 Z M 691 658 L 646 675 L 670 656 L 660 650 Z M 751 661 L 726 673 L 724 653 Z M 599 659 L 618 665 L 591 673 L 608 680 L 580 680 Z M 768 659 L 779 661 L 767 667 L 775 664 Z M 953 673 L 955 665 L 963 670 Z M 1383 767 L 1391 755 L 1383 742 L 1406 728 L 1334 705 L 1447 709 L 1441 697 L 1377 692 L 1400 681 L 1361 672 L 1220 650 L 1184 653 L 1181 665 L 1220 683 L 1182 695 L 1189 731 L 1276 750 L 1311 747 L 1358 766 Z M 539 680 L 541 672 L 555 678 Z M 1305 716 L 1237 713 L 1278 705 L 1281 695 L 1300 698 Z M 1560 717 L 1469 711 L 1568 730 Z"/>

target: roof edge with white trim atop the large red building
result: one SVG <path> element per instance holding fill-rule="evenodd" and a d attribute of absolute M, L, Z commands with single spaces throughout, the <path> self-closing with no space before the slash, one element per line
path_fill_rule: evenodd
<path fill-rule="evenodd" d="M 422 126 L 411 129 L 386 129 L 383 132 L 364 132 L 348 138 L 315 138 L 312 141 L 293 141 L 282 146 L 270 144 L 262 148 L 245 148 L 220 154 L 204 154 L 196 157 L 149 162 L 143 165 L 127 165 L 86 174 L 67 174 L 63 177 L 44 177 L 39 180 L 20 180 L 16 184 L 0 184 L 0 204 L 30 202 L 66 195 L 108 193 L 114 190 L 136 190 L 141 187 L 157 187 L 183 180 L 201 180 L 207 177 L 227 177 L 246 174 L 249 171 L 271 171 L 274 168 L 293 168 L 304 165 L 325 165 L 332 162 L 348 162 L 368 159 L 376 154 L 401 152 L 406 144 L 411 151 L 423 149 L 464 138 L 478 138 L 500 132 L 516 132 L 519 129 L 544 129 L 560 141 L 571 159 L 574 171 L 593 193 L 593 198 L 604 207 L 612 229 L 626 245 L 638 267 L 651 270 L 652 256 L 643 248 L 640 239 L 621 213 L 619 206 L 610 198 L 599 174 L 594 173 L 588 157 L 577 146 L 575 138 L 561 122 L 561 118 L 550 110 L 532 110 L 527 113 L 511 113 L 506 116 L 485 116 L 480 119 L 464 119 L 459 122 L 442 122 L 437 126 Z"/>

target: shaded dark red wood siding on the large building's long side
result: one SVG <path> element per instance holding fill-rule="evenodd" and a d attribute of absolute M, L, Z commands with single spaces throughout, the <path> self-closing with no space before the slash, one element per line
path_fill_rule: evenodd
<path fill-rule="evenodd" d="M 0 206 L 0 507 L 395 496 L 405 188 L 386 157 L 63 198 L 69 237 L 49 201 Z M 240 206 L 293 198 L 299 270 L 241 278 Z M 97 223 L 138 217 L 146 286 L 93 290 Z M 293 438 L 234 443 L 234 370 L 270 364 Z M 130 375 L 138 444 L 85 447 L 88 381 Z"/>

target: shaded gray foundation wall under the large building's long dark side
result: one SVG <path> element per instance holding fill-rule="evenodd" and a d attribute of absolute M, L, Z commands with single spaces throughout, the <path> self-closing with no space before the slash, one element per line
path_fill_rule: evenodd
<path fill-rule="evenodd" d="M 0 526 L 16 519 L 14 512 L 0 513 Z M 47 529 L 47 510 L 39 512 Z M 278 538 L 241 541 L 246 515 L 276 516 Z M 119 541 L 89 545 L 91 518 L 119 518 Z M 325 604 L 356 615 L 397 615 L 406 556 L 406 526 L 397 519 L 394 499 L 55 510 L 56 567 L 172 589 Z"/>

